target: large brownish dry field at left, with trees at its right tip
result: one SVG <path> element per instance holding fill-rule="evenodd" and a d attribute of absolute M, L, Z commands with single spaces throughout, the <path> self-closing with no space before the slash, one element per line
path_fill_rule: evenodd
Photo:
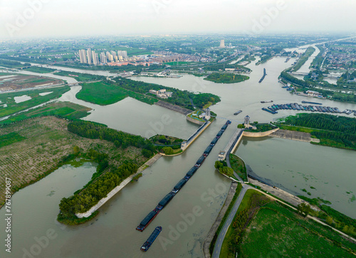
<path fill-rule="evenodd" d="M 38 117 L 0 128 L 0 135 L 17 132 L 26 139 L 0 148 L 0 189 L 5 188 L 5 178 L 11 178 L 12 186 L 21 186 L 56 166 L 59 158 L 73 153 L 73 147 L 83 151 L 95 149 L 109 155 L 110 167 L 125 161 L 142 165 L 147 158 L 141 149 L 128 147 L 117 149 L 109 141 L 86 139 L 67 131 L 65 119 Z M 7 176 L 5 176 L 7 175 Z M 4 205 L 5 193 L 0 192 L 0 208 Z"/>

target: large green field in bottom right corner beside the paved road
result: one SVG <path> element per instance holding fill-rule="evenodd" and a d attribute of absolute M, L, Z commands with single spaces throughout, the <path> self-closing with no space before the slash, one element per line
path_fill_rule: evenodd
<path fill-rule="evenodd" d="M 292 208 L 247 190 L 220 257 L 354 257 L 356 244 L 298 215 Z"/>

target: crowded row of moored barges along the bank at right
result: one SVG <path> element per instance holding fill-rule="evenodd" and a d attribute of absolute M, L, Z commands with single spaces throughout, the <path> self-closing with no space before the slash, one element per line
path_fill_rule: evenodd
<path fill-rule="evenodd" d="M 342 112 L 340 109 L 337 107 L 323 107 L 323 106 L 315 106 L 315 105 L 302 105 L 298 103 L 290 103 L 290 104 L 273 104 L 272 106 L 269 106 L 268 109 L 265 107 L 262 108 L 266 112 L 270 112 L 272 114 L 277 114 L 278 110 L 281 109 L 293 109 L 293 110 L 301 110 L 301 111 L 310 111 L 310 112 L 328 112 L 328 113 L 345 113 L 345 114 L 351 114 L 353 111 L 346 109 L 344 112 Z"/>

